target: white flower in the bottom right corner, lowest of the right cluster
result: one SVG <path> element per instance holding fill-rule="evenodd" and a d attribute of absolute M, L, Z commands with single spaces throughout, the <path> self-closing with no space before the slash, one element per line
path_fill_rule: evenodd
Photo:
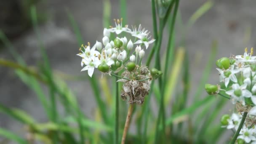
<path fill-rule="evenodd" d="M 250 141 L 256 141 L 256 137 L 253 136 L 256 134 L 254 128 L 248 129 L 243 127 L 239 134 L 240 136 L 238 136 L 237 139 L 243 139 L 246 143 L 249 143 Z"/>

